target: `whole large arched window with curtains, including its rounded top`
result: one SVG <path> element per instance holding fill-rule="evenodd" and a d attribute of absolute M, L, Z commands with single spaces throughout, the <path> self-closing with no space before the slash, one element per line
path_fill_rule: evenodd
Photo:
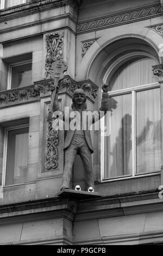
<path fill-rule="evenodd" d="M 111 113 L 109 133 L 101 137 L 103 179 L 160 171 L 160 87 L 152 74 L 156 64 L 148 56 L 135 56 L 123 59 L 108 76 Z"/>

